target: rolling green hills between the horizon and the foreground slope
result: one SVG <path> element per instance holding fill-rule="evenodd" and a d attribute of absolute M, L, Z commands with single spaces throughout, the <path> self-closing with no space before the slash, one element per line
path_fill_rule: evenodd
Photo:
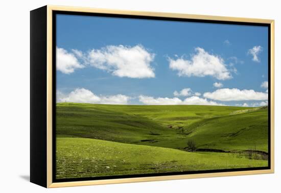
<path fill-rule="evenodd" d="M 193 139 L 201 149 L 267 152 L 267 117 L 267 108 L 59 103 L 56 134 L 173 149 Z"/>

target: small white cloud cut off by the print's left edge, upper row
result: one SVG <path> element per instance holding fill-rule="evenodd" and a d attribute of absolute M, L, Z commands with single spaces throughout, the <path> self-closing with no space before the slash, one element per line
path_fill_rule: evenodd
<path fill-rule="evenodd" d="M 84 67 L 82 64 L 80 64 L 74 53 L 69 53 L 64 49 L 57 47 L 56 55 L 57 70 L 61 71 L 64 74 L 71 74 L 75 69 Z"/>

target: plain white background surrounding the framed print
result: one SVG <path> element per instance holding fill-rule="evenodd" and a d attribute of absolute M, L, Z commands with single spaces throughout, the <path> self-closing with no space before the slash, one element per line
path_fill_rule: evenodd
<path fill-rule="evenodd" d="M 280 52 L 279 1 L 267 0 L 50 0 L 2 1 L 0 17 L 0 191 L 1 192 L 280 192 Z M 29 179 L 29 11 L 67 5 L 154 12 L 174 12 L 275 19 L 275 174 L 170 180 L 45 189 Z M 279 108 L 277 108 L 279 107 Z"/>

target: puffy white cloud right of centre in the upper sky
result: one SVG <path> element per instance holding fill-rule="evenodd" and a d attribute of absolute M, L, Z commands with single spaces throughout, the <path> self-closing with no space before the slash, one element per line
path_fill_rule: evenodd
<path fill-rule="evenodd" d="M 224 60 L 216 55 L 209 54 L 204 49 L 197 47 L 196 54 L 190 60 L 181 58 L 168 58 L 172 70 L 178 71 L 178 76 L 205 77 L 211 76 L 218 80 L 231 79 L 230 70 Z"/>

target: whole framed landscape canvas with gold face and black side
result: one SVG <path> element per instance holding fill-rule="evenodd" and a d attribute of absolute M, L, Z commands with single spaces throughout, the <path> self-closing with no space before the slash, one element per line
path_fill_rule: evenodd
<path fill-rule="evenodd" d="M 31 182 L 274 172 L 274 21 L 31 11 Z"/>

